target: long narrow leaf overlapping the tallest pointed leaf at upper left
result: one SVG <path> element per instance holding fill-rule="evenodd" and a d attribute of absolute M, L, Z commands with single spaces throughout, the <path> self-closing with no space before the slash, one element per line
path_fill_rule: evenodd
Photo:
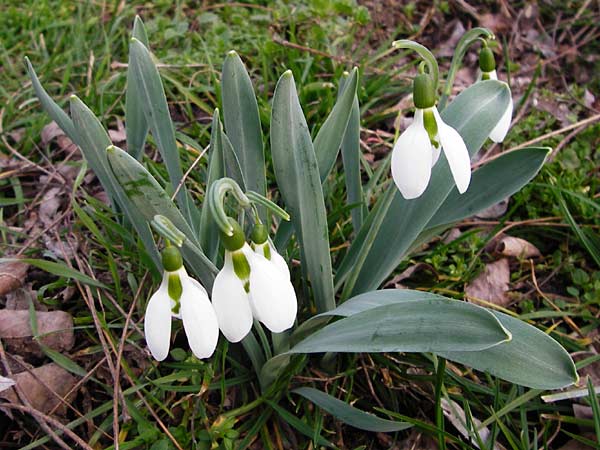
<path fill-rule="evenodd" d="M 175 141 L 175 130 L 160 74 L 150 51 L 136 38 L 131 39 L 129 55 L 130 67 L 139 95 L 139 104 L 142 106 L 152 136 L 167 166 L 173 189 L 176 190 L 183 178 L 183 172 Z M 185 186 L 179 187 L 177 203 L 190 226 L 193 227 L 199 223 L 200 212 L 195 207 Z"/>

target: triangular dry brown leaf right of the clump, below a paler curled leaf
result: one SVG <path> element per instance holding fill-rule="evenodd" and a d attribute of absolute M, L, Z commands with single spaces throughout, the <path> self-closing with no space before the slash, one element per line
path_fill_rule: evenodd
<path fill-rule="evenodd" d="M 468 297 L 506 306 L 510 302 L 508 288 L 510 268 L 508 258 L 486 264 L 483 272 L 465 288 Z"/>

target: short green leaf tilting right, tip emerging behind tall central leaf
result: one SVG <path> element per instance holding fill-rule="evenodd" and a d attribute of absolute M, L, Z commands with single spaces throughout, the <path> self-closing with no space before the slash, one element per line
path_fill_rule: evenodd
<path fill-rule="evenodd" d="M 352 114 L 357 85 L 358 69 L 354 68 L 350 77 L 344 83 L 344 87 L 340 89 L 343 91 L 342 95 L 335 102 L 333 109 L 313 142 L 321 182 L 325 181 L 337 159 Z"/>

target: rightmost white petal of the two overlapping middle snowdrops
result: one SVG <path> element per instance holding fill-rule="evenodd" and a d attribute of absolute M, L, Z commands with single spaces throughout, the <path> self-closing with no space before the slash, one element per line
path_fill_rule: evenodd
<path fill-rule="evenodd" d="M 256 318 L 272 332 L 281 333 L 294 325 L 298 310 L 294 287 L 275 264 L 260 255 L 251 262 L 250 301 Z"/>

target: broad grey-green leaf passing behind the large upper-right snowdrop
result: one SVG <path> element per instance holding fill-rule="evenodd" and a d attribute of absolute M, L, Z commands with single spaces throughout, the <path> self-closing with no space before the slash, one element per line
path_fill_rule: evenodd
<path fill-rule="evenodd" d="M 443 111 L 442 118 L 461 134 L 472 156 L 500 120 L 509 99 L 510 90 L 506 84 L 482 81 L 456 97 Z M 389 207 L 375 212 L 384 216 L 381 224 L 371 227 L 364 239 L 357 239 L 352 244 L 352 247 L 360 247 L 360 252 L 354 254 L 360 253 L 361 257 L 352 267 L 342 297 L 377 288 L 406 256 L 453 187 L 454 180 L 443 155 L 433 168 L 429 187 L 421 197 L 405 200 L 396 186 L 390 184 L 388 192 L 393 197 Z"/>

